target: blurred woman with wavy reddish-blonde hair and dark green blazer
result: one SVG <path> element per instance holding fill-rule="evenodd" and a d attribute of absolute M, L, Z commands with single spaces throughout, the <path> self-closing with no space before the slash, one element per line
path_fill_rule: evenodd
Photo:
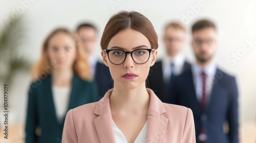
<path fill-rule="evenodd" d="M 26 142 L 61 142 L 68 110 L 98 100 L 78 36 L 65 28 L 50 33 L 32 69 Z"/>

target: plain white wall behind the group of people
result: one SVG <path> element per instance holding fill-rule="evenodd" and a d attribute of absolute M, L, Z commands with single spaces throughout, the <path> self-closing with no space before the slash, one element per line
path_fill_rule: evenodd
<path fill-rule="evenodd" d="M 81 21 L 92 21 L 99 29 L 99 39 L 104 26 L 110 16 L 119 10 L 134 10 L 148 17 L 159 36 L 159 56 L 164 56 L 164 47 L 161 43 L 163 26 L 169 20 L 183 20 L 189 29 L 191 24 L 199 18 L 206 17 L 217 23 L 219 31 L 219 50 L 216 61 L 227 73 L 236 75 L 240 91 L 240 118 L 242 122 L 256 120 L 256 1 L 210 1 L 210 0 L 163 0 L 163 1 L 131 1 L 131 0 L 73 0 L 73 1 L 42 1 L 9 0 L 0 1 L 0 27 L 6 25 L 6 18 L 14 11 L 22 11 L 25 7 L 22 2 L 28 2 L 23 15 L 26 17 L 28 41 L 19 47 L 20 54 L 35 62 L 41 52 L 41 45 L 48 33 L 58 26 L 65 26 L 75 30 Z M 203 4 L 202 7 L 199 3 Z M 197 6 L 196 6 L 197 5 Z M 200 7 L 193 11 L 193 7 Z M 185 20 L 183 17 L 186 16 Z M 12 17 L 9 17 L 12 18 Z M 189 33 L 188 33 L 189 37 Z M 247 41 L 252 41 L 248 45 Z M 243 50 L 243 46 L 248 48 Z M 95 53 L 100 57 L 100 46 Z M 189 61 L 194 56 L 189 44 L 184 53 Z M 239 59 L 231 58 L 238 54 Z M 0 69 L 2 70 L 2 69 Z M 30 83 L 29 73 L 19 73 L 15 76 L 14 84 L 9 87 L 11 99 L 10 124 L 25 122 L 27 91 Z M 1 84 L 1 93 L 3 84 Z M 3 104 L 3 98 L 0 98 Z M 47 106 L 47 105 L 46 105 Z M 2 112 L 2 106 L 0 111 Z M 2 118 L 2 116 L 1 116 Z M 1 119 L 0 118 L 0 119 Z M 3 119 L 2 119 L 3 121 Z"/>

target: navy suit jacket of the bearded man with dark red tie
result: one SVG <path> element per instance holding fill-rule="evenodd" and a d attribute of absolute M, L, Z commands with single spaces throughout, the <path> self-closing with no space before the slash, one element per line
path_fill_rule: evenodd
<path fill-rule="evenodd" d="M 173 96 L 169 103 L 182 105 L 193 111 L 196 136 L 200 129 L 206 131 L 207 143 L 239 142 L 238 87 L 236 78 L 217 69 L 206 108 L 201 109 L 197 99 L 191 68 L 175 78 Z M 228 123 L 228 133 L 223 124 Z"/>

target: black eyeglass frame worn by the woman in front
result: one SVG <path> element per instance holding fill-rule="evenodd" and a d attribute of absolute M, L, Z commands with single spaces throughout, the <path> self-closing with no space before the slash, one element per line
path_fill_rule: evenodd
<path fill-rule="evenodd" d="M 125 57 L 124 57 L 124 60 L 123 60 L 123 62 L 124 62 L 124 61 L 126 60 L 127 54 L 131 54 L 131 57 L 132 57 L 132 59 L 133 59 L 133 52 L 136 51 L 136 50 L 146 50 L 146 51 L 148 51 L 148 52 L 150 53 L 150 55 L 151 55 L 151 52 L 152 52 L 152 51 L 155 51 L 156 49 L 135 49 L 135 50 L 133 50 L 133 51 L 124 51 L 124 50 L 120 50 L 120 49 L 109 49 L 109 50 L 104 49 L 103 51 L 106 52 L 106 54 L 108 54 L 109 60 L 110 60 L 109 53 L 110 53 L 111 51 L 114 51 L 114 50 L 123 51 L 123 52 L 125 53 Z M 146 63 L 146 62 L 148 61 L 148 59 L 150 59 L 150 55 L 148 55 L 148 58 L 147 58 L 147 60 L 146 60 L 144 63 Z M 133 59 L 133 61 L 134 61 L 135 63 L 137 63 L 134 59 Z M 110 62 L 111 62 L 112 64 L 115 64 L 115 63 L 113 63 L 111 60 L 110 60 Z M 122 63 L 123 63 L 123 62 L 122 62 Z M 122 63 L 120 63 L 120 64 L 122 64 Z M 137 63 L 137 64 L 144 64 L 144 63 Z M 115 64 L 115 65 L 120 65 L 120 64 Z"/>

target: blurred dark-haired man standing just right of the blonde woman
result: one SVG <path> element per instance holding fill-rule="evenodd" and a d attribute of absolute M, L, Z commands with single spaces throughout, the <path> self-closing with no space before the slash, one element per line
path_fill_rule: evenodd
<path fill-rule="evenodd" d="M 82 23 L 77 27 L 77 34 L 82 40 L 84 54 L 89 57 L 91 74 L 98 85 L 99 98 L 102 98 L 105 92 L 112 88 L 113 83 L 109 67 L 99 62 L 94 55 L 94 49 L 97 44 L 97 29 L 91 23 Z"/>

